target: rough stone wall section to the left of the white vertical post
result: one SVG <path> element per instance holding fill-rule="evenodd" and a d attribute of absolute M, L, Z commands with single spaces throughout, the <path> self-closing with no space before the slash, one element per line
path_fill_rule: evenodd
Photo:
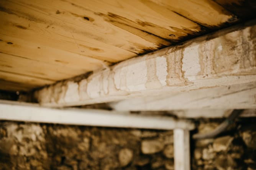
<path fill-rule="evenodd" d="M 173 132 L 2 121 L 0 169 L 173 170 Z"/>

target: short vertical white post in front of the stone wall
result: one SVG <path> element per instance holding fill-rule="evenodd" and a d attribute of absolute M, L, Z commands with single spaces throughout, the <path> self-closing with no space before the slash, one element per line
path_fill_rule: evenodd
<path fill-rule="evenodd" d="M 189 131 L 174 129 L 174 170 L 190 170 Z"/>

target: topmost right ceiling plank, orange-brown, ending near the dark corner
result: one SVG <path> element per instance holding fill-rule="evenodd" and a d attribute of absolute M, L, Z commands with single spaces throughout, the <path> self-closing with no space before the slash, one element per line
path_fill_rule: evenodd
<path fill-rule="evenodd" d="M 211 0 L 150 0 L 168 10 L 213 29 L 237 21 L 235 15 Z M 145 1 L 147 2 L 147 1 Z M 228 1 L 226 1 L 228 2 Z"/>

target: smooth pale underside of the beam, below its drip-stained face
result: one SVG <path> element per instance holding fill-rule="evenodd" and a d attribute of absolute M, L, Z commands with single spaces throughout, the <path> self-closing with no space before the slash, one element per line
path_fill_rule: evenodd
<path fill-rule="evenodd" d="M 153 97 L 137 97 L 112 102 L 109 105 L 119 111 L 190 110 L 192 112 L 195 109 L 255 109 L 256 82 L 176 92 Z M 191 114 L 195 115 L 195 113 Z M 205 114 L 215 115 L 215 113 Z"/>

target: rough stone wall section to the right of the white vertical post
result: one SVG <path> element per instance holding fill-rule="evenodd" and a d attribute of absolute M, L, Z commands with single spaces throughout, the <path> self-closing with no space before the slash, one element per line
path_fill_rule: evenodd
<path fill-rule="evenodd" d="M 199 120 L 198 131 L 210 132 L 222 121 L 223 119 Z M 192 169 L 256 170 L 255 122 L 256 118 L 241 118 L 228 127 L 222 136 L 195 141 Z"/>

